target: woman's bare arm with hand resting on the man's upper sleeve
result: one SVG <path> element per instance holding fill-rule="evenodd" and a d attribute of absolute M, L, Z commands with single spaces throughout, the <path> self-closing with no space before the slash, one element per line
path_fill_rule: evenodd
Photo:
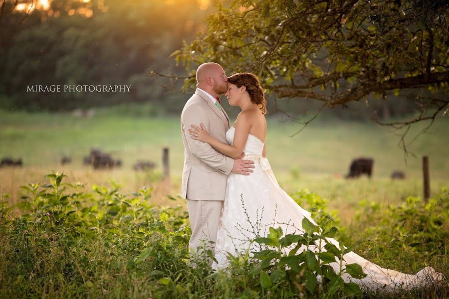
<path fill-rule="evenodd" d="M 231 158 L 239 159 L 241 157 L 248 139 L 249 129 L 251 128 L 251 124 L 245 117 L 239 118 L 238 128 L 235 128 L 233 146 L 228 145 L 227 143 L 222 143 L 210 136 L 203 123 L 201 123 L 200 126 L 201 128 L 192 125 L 193 129 L 189 129 L 193 139 L 206 142 L 214 149 L 217 149 Z"/>

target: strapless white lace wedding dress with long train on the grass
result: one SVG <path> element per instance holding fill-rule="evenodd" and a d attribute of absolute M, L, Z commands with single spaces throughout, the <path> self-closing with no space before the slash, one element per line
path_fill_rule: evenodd
<path fill-rule="evenodd" d="M 233 144 L 235 128 L 226 132 L 226 140 Z M 249 134 L 244 152 L 245 159 L 254 161 L 255 168 L 250 175 L 231 173 L 227 179 L 225 203 L 217 233 L 215 247 L 214 269 L 223 269 L 228 266 L 227 253 L 236 255 L 249 249 L 256 252 L 257 244 L 250 244 L 249 240 L 256 237 L 265 237 L 270 226 L 281 227 L 283 234 L 302 234 L 302 220 L 306 217 L 316 225 L 311 213 L 301 208 L 277 183 L 268 160 L 262 157 L 263 143 L 255 136 Z M 299 230 L 299 231 L 298 231 Z M 338 242 L 333 238 L 326 238 L 339 248 Z M 296 254 L 307 247 L 303 245 Z M 317 247 L 309 247 L 317 251 Z M 322 249 L 322 251 L 325 251 Z M 344 255 L 343 265 L 359 264 L 367 276 L 363 279 L 354 279 L 343 274 L 345 282 L 359 284 L 362 289 L 394 291 L 398 288 L 408 290 L 425 286 L 444 279 L 432 267 L 426 267 L 416 275 L 409 275 L 398 271 L 384 269 L 367 261 L 354 252 Z M 336 273 L 340 271 L 339 262 L 329 264 Z"/>

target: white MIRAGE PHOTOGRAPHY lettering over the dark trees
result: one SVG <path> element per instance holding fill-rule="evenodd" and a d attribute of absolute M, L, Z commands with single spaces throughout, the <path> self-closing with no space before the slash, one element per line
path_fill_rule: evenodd
<path fill-rule="evenodd" d="M 26 92 L 129 92 L 131 85 L 27 85 Z"/>

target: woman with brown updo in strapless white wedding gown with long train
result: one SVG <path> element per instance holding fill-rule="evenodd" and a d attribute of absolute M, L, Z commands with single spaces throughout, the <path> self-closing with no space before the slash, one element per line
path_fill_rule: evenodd
<path fill-rule="evenodd" d="M 227 156 L 239 158 L 244 152 L 243 159 L 255 161 L 251 175 L 231 173 L 227 178 L 225 204 L 215 247 L 218 263 L 214 262 L 212 265 L 215 269 L 227 267 L 227 253 L 236 255 L 248 249 L 253 253 L 257 251 L 250 240 L 264 237 L 273 224 L 280 226 L 285 235 L 304 233 L 301 225 L 304 218 L 317 225 L 311 218 L 311 213 L 301 208 L 282 190 L 265 157 L 267 125 L 264 115 L 267 111 L 258 78 L 251 73 L 236 73 L 227 79 L 227 86 L 225 95 L 229 104 L 241 108 L 233 127 L 226 132 L 229 144 L 211 137 L 203 124 L 200 127 L 192 125 L 189 129 L 193 139 L 208 143 Z M 326 240 L 339 248 L 335 239 Z M 318 246 L 309 249 L 318 251 Z M 297 254 L 303 250 L 307 250 L 305 245 Z M 355 279 L 348 274 L 344 274 L 342 278 L 345 282 L 355 282 L 369 290 L 411 289 L 443 279 L 432 267 L 426 267 L 416 275 L 409 275 L 381 268 L 352 251 L 343 256 L 342 263 L 360 265 L 367 274 L 365 278 Z M 340 261 L 336 260 L 329 265 L 336 273 L 340 271 Z"/>

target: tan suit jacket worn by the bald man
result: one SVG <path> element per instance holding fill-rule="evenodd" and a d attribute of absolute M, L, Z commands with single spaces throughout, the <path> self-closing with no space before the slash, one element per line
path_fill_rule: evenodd
<path fill-rule="evenodd" d="M 225 110 L 220 111 L 204 92 L 197 89 L 181 113 L 184 143 L 181 196 L 189 200 L 225 200 L 227 176 L 234 159 L 191 138 L 190 126 L 200 126 L 200 123 L 212 137 L 227 143 L 225 134 L 229 129 L 229 118 Z"/>

